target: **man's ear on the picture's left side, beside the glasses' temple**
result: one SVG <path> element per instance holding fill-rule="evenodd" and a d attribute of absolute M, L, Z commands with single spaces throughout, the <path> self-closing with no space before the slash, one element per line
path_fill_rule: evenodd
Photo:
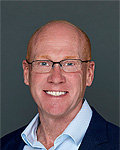
<path fill-rule="evenodd" d="M 29 85 L 29 66 L 26 60 L 23 60 L 22 66 L 23 66 L 24 83 L 26 85 Z"/>

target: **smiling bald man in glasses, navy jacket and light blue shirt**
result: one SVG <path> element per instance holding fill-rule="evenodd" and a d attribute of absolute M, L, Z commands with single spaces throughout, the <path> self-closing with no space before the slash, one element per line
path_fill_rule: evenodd
<path fill-rule="evenodd" d="M 2 138 L 2 150 L 118 150 L 118 127 L 84 99 L 95 63 L 87 35 L 67 21 L 39 28 L 23 61 L 24 82 L 38 107 L 29 123 Z"/>

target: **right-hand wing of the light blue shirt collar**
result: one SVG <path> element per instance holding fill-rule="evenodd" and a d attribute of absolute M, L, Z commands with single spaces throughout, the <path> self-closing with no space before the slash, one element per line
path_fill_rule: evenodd
<path fill-rule="evenodd" d="M 85 100 L 79 113 L 56 140 L 63 135 L 67 135 L 73 139 L 76 145 L 79 145 L 87 131 L 91 118 L 92 110 Z"/>

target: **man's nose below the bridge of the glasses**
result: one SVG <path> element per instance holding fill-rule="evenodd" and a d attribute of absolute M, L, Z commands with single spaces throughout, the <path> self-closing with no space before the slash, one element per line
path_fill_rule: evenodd
<path fill-rule="evenodd" d="M 62 69 L 59 64 L 55 64 L 52 68 L 51 74 L 48 77 L 49 83 L 60 84 L 65 83 L 66 79 L 62 74 Z"/>

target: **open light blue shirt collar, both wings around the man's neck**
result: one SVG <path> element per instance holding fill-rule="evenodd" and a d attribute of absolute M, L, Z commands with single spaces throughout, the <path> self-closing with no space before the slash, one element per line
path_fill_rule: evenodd
<path fill-rule="evenodd" d="M 65 140 L 69 136 L 75 142 L 76 145 L 79 145 L 82 142 L 82 139 L 86 133 L 91 118 L 92 110 L 85 99 L 79 113 L 67 126 L 64 132 L 56 138 L 55 143 L 59 141 L 63 142 L 63 140 Z M 33 118 L 33 120 L 29 123 L 26 129 L 22 132 L 22 139 L 27 145 L 43 147 L 43 145 L 37 141 L 36 131 L 38 124 L 39 114 L 37 114 Z"/>

